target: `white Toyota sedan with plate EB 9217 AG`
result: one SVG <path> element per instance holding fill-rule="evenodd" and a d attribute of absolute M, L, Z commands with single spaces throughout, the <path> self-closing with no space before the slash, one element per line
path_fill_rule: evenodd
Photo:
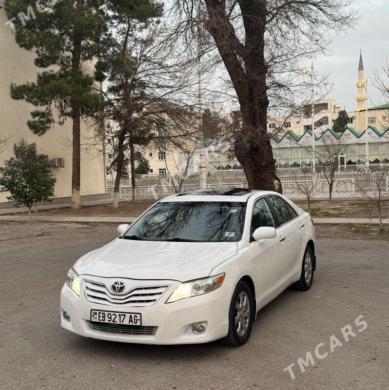
<path fill-rule="evenodd" d="M 256 313 L 309 290 L 315 231 L 282 195 L 247 189 L 168 196 L 82 256 L 61 290 L 63 329 L 102 340 L 239 346 Z"/>

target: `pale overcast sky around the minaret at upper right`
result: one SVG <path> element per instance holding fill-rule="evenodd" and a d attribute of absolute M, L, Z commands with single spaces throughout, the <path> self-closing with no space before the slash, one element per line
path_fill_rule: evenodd
<path fill-rule="evenodd" d="M 389 0 L 354 0 L 353 7 L 359 8 L 362 19 L 354 30 L 332 43 L 333 56 L 322 57 L 314 62 L 320 73 L 331 73 L 333 90 L 328 98 L 336 100 L 338 106 L 346 110 L 356 110 L 357 76 L 359 50 L 362 47 L 365 78 L 368 78 L 368 106 L 381 104 L 383 98 L 371 85 L 370 77 L 389 55 L 388 16 Z M 309 64 L 308 64 L 309 65 Z M 382 72 L 380 72 L 382 73 Z"/>

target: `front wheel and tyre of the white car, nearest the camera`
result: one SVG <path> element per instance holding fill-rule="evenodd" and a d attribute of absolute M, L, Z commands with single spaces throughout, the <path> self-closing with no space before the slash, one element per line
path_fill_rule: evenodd
<path fill-rule="evenodd" d="M 240 280 L 235 287 L 228 313 L 228 334 L 220 342 L 232 347 L 239 347 L 247 342 L 253 328 L 253 294 L 246 282 Z"/>

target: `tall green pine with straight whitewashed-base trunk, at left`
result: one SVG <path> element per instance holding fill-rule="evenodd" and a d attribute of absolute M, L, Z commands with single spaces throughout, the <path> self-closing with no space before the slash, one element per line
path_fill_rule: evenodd
<path fill-rule="evenodd" d="M 36 3 L 36 11 L 29 0 L 5 0 L 4 5 L 14 23 L 16 42 L 34 51 L 35 65 L 45 69 L 38 73 L 35 82 L 12 84 L 11 97 L 39 107 L 31 112 L 27 122 L 37 135 L 45 134 L 55 123 L 55 117 L 60 125 L 66 118 L 72 119 L 72 208 L 79 209 L 81 117 L 92 116 L 103 107 L 101 95 L 94 89 L 93 70 L 89 68 L 105 50 L 104 37 L 110 35 L 108 24 L 112 20 L 145 19 L 159 3 L 155 5 L 154 0 L 41 0 Z M 15 18 L 22 14 L 26 18 Z"/>

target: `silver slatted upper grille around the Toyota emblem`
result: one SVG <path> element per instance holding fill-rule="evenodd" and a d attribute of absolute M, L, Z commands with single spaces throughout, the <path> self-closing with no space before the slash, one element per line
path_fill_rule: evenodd
<path fill-rule="evenodd" d="M 83 280 L 86 299 L 89 302 L 120 307 L 147 307 L 154 305 L 170 285 L 134 287 L 122 294 L 113 294 L 103 283 Z"/>

